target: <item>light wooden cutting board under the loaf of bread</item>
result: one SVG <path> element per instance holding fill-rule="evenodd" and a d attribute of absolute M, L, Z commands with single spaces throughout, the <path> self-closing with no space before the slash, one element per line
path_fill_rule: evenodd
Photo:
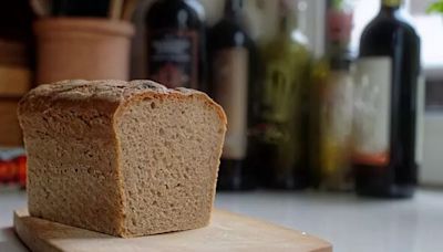
<path fill-rule="evenodd" d="M 183 232 L 114 238 L 14 212 L 20 239 L 34 252 L 113 251 L 292 251 L 331 252 L 330 243 L 303 232 L 215 210 L 209 227 Z"/>

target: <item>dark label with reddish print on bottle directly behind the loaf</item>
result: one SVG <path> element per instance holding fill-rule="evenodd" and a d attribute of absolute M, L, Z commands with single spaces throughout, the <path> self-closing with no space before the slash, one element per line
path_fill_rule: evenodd
<path fill-rule="evenodd" d="M 198 88 L 198 34 L 195 31 L 154 31 L 150 34 L 147 76 L 174 87 Z"/>

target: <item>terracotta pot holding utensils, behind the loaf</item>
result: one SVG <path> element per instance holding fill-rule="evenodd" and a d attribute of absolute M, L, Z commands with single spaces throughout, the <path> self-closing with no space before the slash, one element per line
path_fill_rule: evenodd
<path fill-rule="evenodd" d="M 37 83 L 127 80 L 134 28 L 124 21 L 51 18 L 34 23 Z"/>

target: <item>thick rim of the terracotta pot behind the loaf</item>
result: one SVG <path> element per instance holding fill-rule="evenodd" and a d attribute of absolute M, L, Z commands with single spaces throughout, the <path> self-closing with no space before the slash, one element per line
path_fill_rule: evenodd
<path fill-rule="evenodd" d="M 34 21 L 37 36 L 56 32 L 91 32 L 109 35 L 133 36 L 134 25 L 127 21 L 104 18 L 44 18 Z"/>

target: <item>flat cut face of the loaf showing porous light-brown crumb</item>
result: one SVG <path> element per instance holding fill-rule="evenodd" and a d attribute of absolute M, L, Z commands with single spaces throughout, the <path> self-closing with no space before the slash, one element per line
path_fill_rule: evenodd
<path fill-rule="evenodd" d="M 206 225 L 225 132 L 219 115 L 193 95 L 142 95 L 119 113 L 123 235 Z"/>

